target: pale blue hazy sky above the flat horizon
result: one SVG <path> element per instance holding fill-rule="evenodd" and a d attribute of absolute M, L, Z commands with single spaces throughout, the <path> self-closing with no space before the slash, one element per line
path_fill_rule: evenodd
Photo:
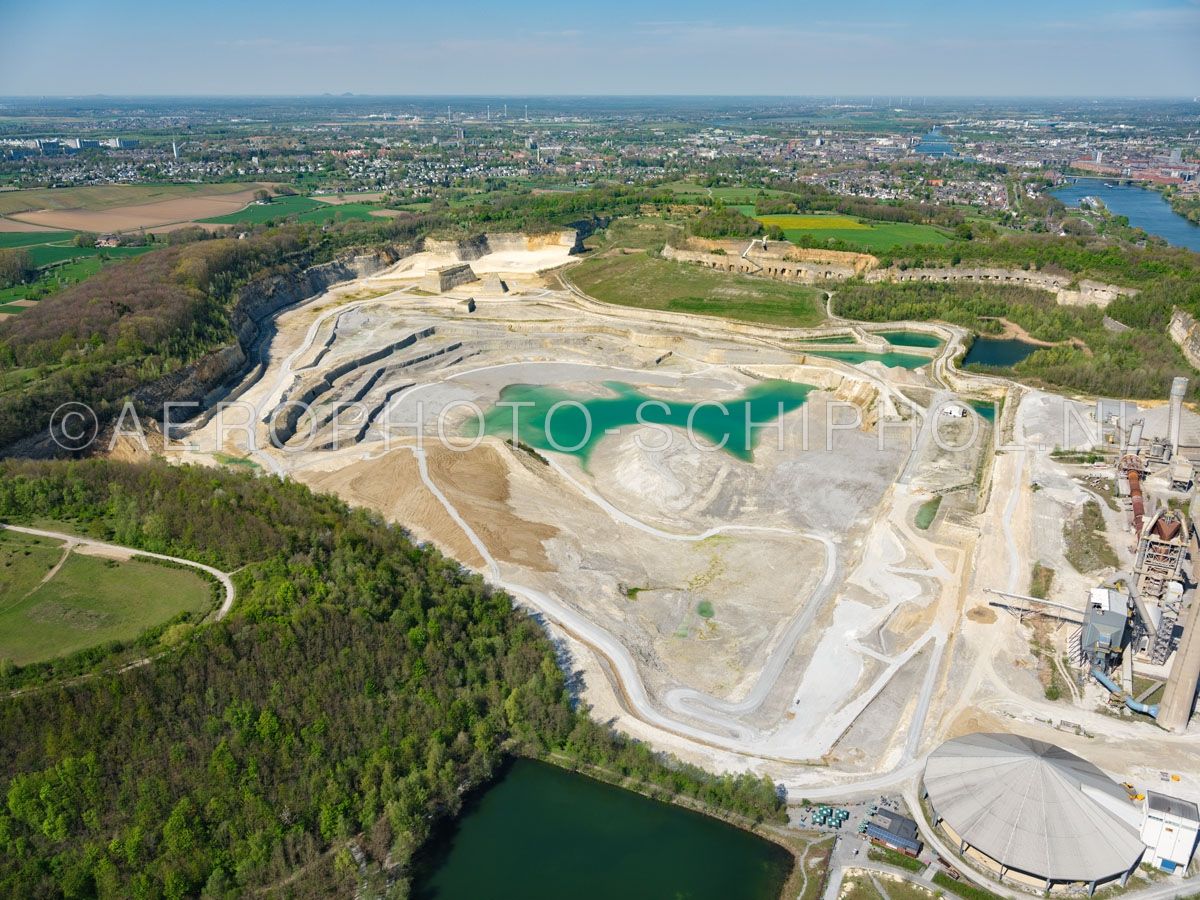
<path fill-rule="evenodd" d="M 1200 0 L 0 0 L 0 95 L 1200 95 Z"/>

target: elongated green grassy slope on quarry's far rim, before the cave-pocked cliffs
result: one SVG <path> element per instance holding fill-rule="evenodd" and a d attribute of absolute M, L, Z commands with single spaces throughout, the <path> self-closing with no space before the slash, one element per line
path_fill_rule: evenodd
<path fill-rule="evenodd" d="M 823 293 L 816 288 L 714 272 L 648 253 L 595 256 L 566 277 L 588 295 L 619 306 L 793 328 L 824 318 Z"/>

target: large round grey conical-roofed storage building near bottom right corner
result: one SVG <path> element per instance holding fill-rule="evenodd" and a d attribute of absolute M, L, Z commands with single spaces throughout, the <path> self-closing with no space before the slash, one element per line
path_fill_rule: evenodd
<path fill-rule="evenodd" d="M 967 734 L 929 756 L 932 822 L 1001 881 L 1038 890 L 1097 884 L 1136 869 L 1141 810 L 1121 785 L 1062 748 L 1018 734 Z"/>

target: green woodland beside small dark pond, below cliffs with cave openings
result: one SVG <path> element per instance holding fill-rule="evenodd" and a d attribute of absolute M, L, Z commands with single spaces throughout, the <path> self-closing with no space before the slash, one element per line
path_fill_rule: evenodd
<path fill-rule="evenodd" d="M 1159 397 L 1175 376 L 1194 372 L 1165 336 L 1170 302 L 1118 298 L 1105 310 L 1060 306 L 1052 294 L 1000 284 L 850 283 L 835 298 L 839 316 L 864 322 L 949 322 L 982 334 L 1014 322 L 1039 341 L 1082 341 L 1037 350 L 1019 362 L 1016 374 L 1050 388 L 1112 397 Z M 1114 332 L 1104 317 L 1130 326 Z M 1194 380 L 1194 379 L 1193 379 Z"/>

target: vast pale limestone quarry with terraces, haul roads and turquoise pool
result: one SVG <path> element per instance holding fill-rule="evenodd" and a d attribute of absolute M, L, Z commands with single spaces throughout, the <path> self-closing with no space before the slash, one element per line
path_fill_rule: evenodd
<path fill-rule="evenodd" d="M 1132 506 L 1106 499 L 1129 479 L 1104 442 L 1146 457 L 1158 514 L 1190 469 L 1152 462 L 1152 439 L 1178 421 L 1200 434 L 1200 419 L 1168 421 L 1164 406 L 1140 412 L 1136 440 L 1129 422 L 1076 434 L 1103 432 L 1104 409 L 959 371 L 961 329 L 890 325 L 936 346 L 900 347 L 919 359 L 888 367 L 896 347 L 876 326 L 601 304 L 560 277 L 578 248 L 571 232 L 431 241 L 281 308 L 262 365 L 175 428 L 169 452 L 257 466 L 402 524 L 544 620 L 598 719 L 767 774 L 797 802 L 900 784 L 976 731 L 1086 748 L 1130 781 L 1183 768 L 1187 714 L 1166 731 L 1123 700 L 1200 654 L 1192 629 L 1159 659 L 1163 614 L 1147 612 L 1153 628 L 1130 631 L 1136 676 L 1102 666 L 1115 692 L 1091 677 L 1084 634 L 1090 592 L 1146 568 Z M 830 338 L 854 358 L 827 355 Z M 638 415 L 612 412 L 631 398 Z M 584 414 L 599 431 L 581 449 Z M 1067 452 L 1094 450 L 1114 464 Z M 1080 572 L 1062 523 L 1088 500 L 1117 562 Z M 1036 564 L 1060 572 L 1049 593 L 1031 589 Z M 1190 589 L 1159 594 L 1172 622 L 1198 606 Z M 1172 790 L 1200 797 L 1194 772 L 1181 778 Z"/>

